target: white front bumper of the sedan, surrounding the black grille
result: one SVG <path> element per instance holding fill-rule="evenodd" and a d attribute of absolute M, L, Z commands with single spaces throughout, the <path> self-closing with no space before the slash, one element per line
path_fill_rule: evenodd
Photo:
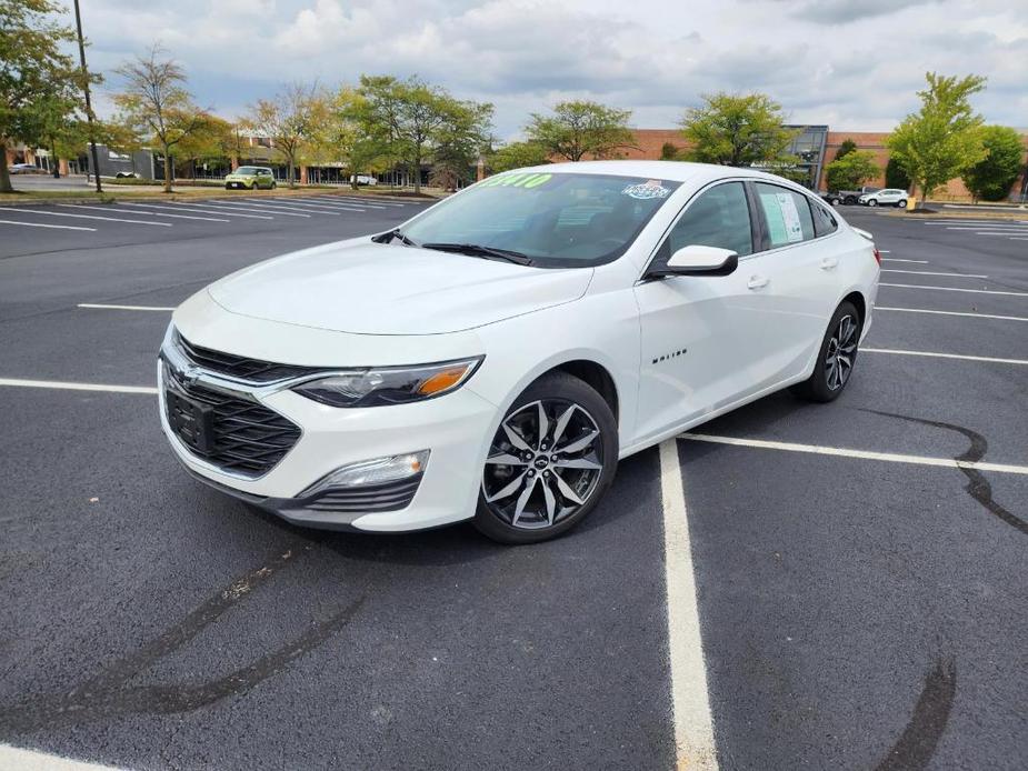
<path fill-rule="evenodd" d="M 166 378 L 164 364 L 158 362 L 161 427 L 178 460 L 201 481 L 290 522 L 325 529 L 400 532 L 435 528 L 475 514 L 480 469 L 497 408 L 470 389 L 460 388 L 439 399 L 410 404 L 340 409 L 319 404 L 288 388 L 244 386 L 201 372 L 198 381 L 204 388 L 244 393 L 301 430 L 300 438 L 278 463 L 259 477 L 248 478 L 199 458 L 172 431 Z M 361 500 L 380 503 L 380 499 L 375 498 L 375 490 L 360 488 L 342 489 L 355 494 L 341 507 L 301 497 L 311 484 L 340 467 L 420 450 L 430 451 L 428 462 L 417 479 L 409 480 L 415 491 L 401 509 L 361 510 Z M 396 501 L 403 491 L 379 492 Z M 332 508 L 337 510 L 327 510 Z"/>

